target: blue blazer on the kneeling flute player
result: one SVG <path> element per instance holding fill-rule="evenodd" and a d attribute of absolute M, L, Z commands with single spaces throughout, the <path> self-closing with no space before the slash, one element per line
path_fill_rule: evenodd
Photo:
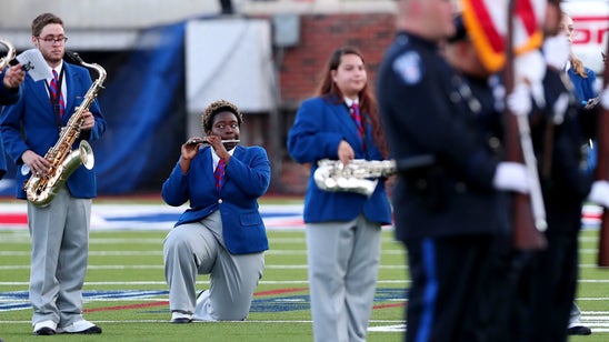
<path fill-rule="evenodd" d="M 179 207 L 190 201 L 190 208 L 180 215 L 174 229 L 220 210 L 222 237 L 229 252 L 246 254 L 268 250 L 267 231 L 258 211 L 258 199 L 267 192 L 271 180 L 267 151 L 261 147 L 237 145 L 218 192 L 210 149 L 208 145 L 199 150 L 186 174 L 178 161 L 162 185 L 167 204 Z"/>

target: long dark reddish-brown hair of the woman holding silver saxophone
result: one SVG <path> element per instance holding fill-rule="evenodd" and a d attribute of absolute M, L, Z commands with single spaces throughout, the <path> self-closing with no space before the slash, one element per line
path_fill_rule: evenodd
<path fill-rule="evenodd" d="M 343 47 L 335 50 L 326 64 L 321 73 L 321 80 L 317 87 L 316 95 L 328 99 L 329 101 L 342 102 L 343 94 L 340 89 L 337 87 L 332 80 L 332 71 L 338 70 L 340 66 L 341 58 L 346 54 L 356 54 L 358 56 L 363 64 L 366 61 L 361 52 L 352 47 Z M 363 89 L 358 94 L 359 98 L 359 108 L 361 111 L 363 122 L 370 122 L 372 125 L 372 139 L 383 158 L 389 155 L 389 148 L 387 141 L 385 140 L 385 132 L 379 118 L 379 110 L 377 105 L 377 99 L 373 95 L 373 91 L 370 87 L 370 81 L 368 80 L 363 86 Z"/>

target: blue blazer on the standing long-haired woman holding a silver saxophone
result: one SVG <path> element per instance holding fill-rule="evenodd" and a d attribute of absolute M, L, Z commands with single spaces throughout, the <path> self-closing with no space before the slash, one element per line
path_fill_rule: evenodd
<path fill-rule="evenodd" d="M 372 128 L 366 122 L 366 145 L 342 99 L 312 98 L 302 102 L 288 133 L 288 150 L 299 163 L 311 163 L 304 194 L 304 222 L 350 221 L 360 213 L 381 224 L 391 223 L 391 208 L 381 179 L 370 198 L 355 192 L 320 190 L 313 179 L 320 159 L 338 160 L 338 145 L 346 140 L 356 159 L 382 160 L 372 141 Z"/>

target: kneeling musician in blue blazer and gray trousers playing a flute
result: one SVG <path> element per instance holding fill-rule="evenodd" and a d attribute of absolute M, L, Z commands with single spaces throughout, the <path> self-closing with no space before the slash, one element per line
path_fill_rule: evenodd
<path fill-rule="evenodd" d="M 172 323 L 246 320 L 262 278 L 269 243 L 258 199 L 271 168 L 263 148 L 238 144 L 242 123 L 234 104 L 209 104 L 202 114 L 207 137 L 182 144 L 162 185 L 167 204 L 189 202 L 163 243 Z M 198 274 L 210 274 L 210 288 L 199 296 Z"/>

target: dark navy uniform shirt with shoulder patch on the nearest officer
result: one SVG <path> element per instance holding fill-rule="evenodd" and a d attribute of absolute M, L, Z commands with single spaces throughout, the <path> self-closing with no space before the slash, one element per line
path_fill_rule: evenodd
<path fill-rule="evenodd" d="M 407 182 L 399 170 L 395 205 L 399 239 L 498 232 L 507 229 L 503 203 L 492 178 L 499 162 L 485 134 L 471 124 L 471 112 L 459 92 L 459 77 L 443 60 L 436 42 L 398 33 L 379 70 L 377 89 L 381 119 L 393 158 L 436 158 L 440 173 L 427 194 Z M 406 172 L 408 173 L 408 172 Z M 429 174 L 430 172 L 423 172 Z M 443 201 L 426 204 L 430 191 Z M 433 202 L 433 201 L 432 201 Z M 425 229 L 421 229 L 425 227 Z"/>

